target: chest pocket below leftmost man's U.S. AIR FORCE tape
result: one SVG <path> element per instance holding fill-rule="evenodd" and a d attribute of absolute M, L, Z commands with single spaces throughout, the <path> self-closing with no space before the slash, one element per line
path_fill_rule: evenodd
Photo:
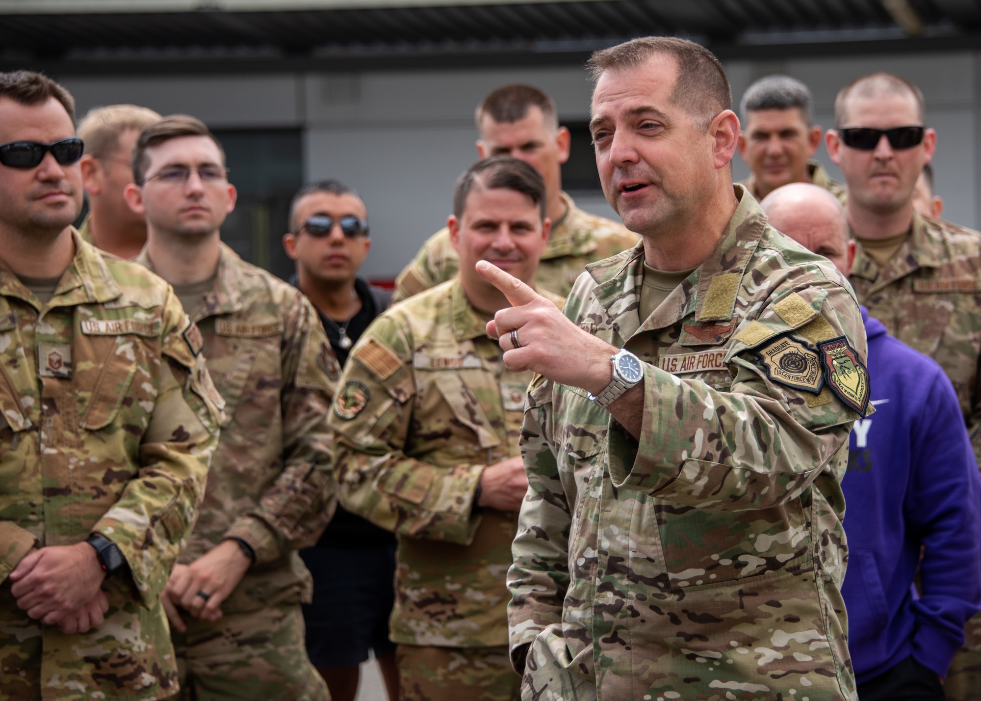
<path fill-rule="evenodd" d="M 101 367 L 95 363 L 87 369 L 80 362 L 76 363 L 77 399 L 81 412 L 78 426 L 88 431 L 98 431 L 116 420 L 127 398 L 132 404 L 129 385 L 136 374 L 142 348 L 135 336 L 83 338 L 87 341 L 86 345 L 92 347 L 91 354 L 87 356 L 105 358 L 105 361 Z M 83 355 L 77 354 L 77 357 Z M 94 383 L 90 384 L 93 375 Z M 88 387 L 91 389 L 88 390 Z"/>

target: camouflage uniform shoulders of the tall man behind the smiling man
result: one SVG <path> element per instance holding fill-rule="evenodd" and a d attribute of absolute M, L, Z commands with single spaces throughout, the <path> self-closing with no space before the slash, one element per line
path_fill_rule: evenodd
<path fill-rule="evenodd" d="M 565 192 L 567 213 L 552 228 L 535 275 L 539 289 L 565 297 L 587 263 L 602 260 L 634 246 L 640 238 L 622 224 L 584 212 Z M 445 227 L 431 236 L 395 279 L 392 303 L 446 282 L 460 269 L 460 259 Z"/>

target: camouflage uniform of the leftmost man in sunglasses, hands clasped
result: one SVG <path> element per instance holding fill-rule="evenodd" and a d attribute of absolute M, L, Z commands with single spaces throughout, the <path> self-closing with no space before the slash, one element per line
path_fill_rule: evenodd
<path fill-rule="evenodd" d="M 178 690 L 160 594 L 218 444 L 221 398 L 170 287 L 73 232 L 42 305 L 0 263 L 0 697 L 161 699 Z M 109 612 L 65 635 L 17 608 L 7 575 L 34 546 L 100 533 L 130 574 Z"/>

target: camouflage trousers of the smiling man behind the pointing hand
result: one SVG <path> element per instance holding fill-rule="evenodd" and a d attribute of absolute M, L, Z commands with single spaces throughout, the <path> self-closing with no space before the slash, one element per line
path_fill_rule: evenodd
<path fill-rule="evenodd" d="M 399 645 L 399 701 L 517 701 L 507 647 Z"/>

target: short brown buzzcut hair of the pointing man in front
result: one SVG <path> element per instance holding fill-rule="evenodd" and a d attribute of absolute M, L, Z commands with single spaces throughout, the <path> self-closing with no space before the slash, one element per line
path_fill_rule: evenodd
<path fill-rule="evenodd" d="M 671 102 L 687 111 L 702 131 L 723 110 L 732 109 L 733 93 L 725 69 L 715 54 L 694 41 L 675 36 L 642 36 L 594 52 L 586 64 L 594 81 L 607 71 L 642 66 L 655 54 L 673 56 L 678 79 L 671 89 Z"/>

